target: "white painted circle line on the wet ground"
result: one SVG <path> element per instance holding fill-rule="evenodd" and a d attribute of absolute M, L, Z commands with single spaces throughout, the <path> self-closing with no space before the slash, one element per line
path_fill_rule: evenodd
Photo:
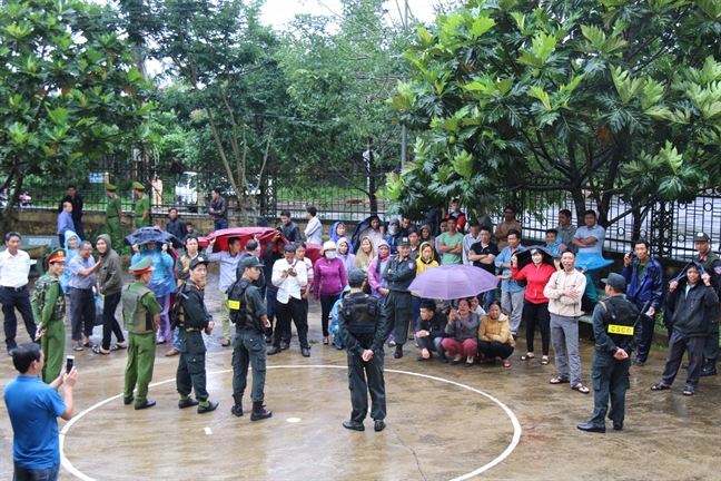
<path fill-rule="evenodd" d="M 343 365 L 339 365 L 339 366 L 338 365 L 278 365 L 278 366 L 267 366 L 267 369 L 343 369 L 343 370 L 345 370 L 347 367 L 343 366 Z M 216 371 L 216 372 L 211 372 L 211 373 L 208 373 L 208 374 L 225 374 L 225 373 L 229 373 L 229 372 L 233 372 L 233 370 Z M 455 386 L 463 387 L 465 390 L 472 391 L 472 392 L 474 392 L 476 394 L 481 394 L 481 395 L 490 399 L 494 403 L 496 403 L 498 406 L 501 406 L 501 409 L 506 413 L 506 415 L 511 420 L 511 424 L 513 424 L 513 439 L 511 440 L 511 443 L 508 444 L 508 446 L 498 457 L 493 459 L 487 464 L 484 464 L 481 468 L 478 468 L 478 469 L 476 469 L 476 470 L 474 470 L 474 471 L 472 471 L 470 473 L 466 473 L 466 474 L 460 475 L 457 478 L 454 478 L 451 481 L 467 480 L 470 478 L 473 478 L 473 477 L 476 477 L 476 475 L 481 474 L 484 471 L 490 470 L 491 468 L 493 468 L 494 465 L 498 464 L 504 459 L 510 457 L 511 453 L 513 452 L 513 450 L 518 445 L 518 441 L 521 440 L 521 423 L 518 422 L 518 419 L 515 416 L 515 414 L 513 414 L 513 411 L 511 411 L 511 409 L 507 405 L 503 404 L 501 401 L 498 401 L 497 399 L 495 399 L 491 394 L 487 394 L 487 393 L 485 393 L 485 392 L 483 392 L 481 390 L 477 390 L 475 387 L 471 387 L 470 385 L 466 385 L 466 384 L 462 384 L 462 383 L 451 381 L 451 380 L 447 380 L 447 379 L 443 379 L 443 377 L 432 376 L 432 375 L 428 375 L 428 374 L 421 374 L 421 373 L 414 373 L 414 372 L 409 372 L 409 371 L 399 371 L 399 370 L 384 370 L 384 372 L 386 372 L 386 373 L 396 373 L 396 374 L 406 374 L 406 375 L 412 375 L 412 376 L 416 376 L 416 377 L 424 377 L 424 379 L 428 379 L 428 380 L 432 380 L 432 381 L 438 381 L 438 382 L 443 382 L 443 383 L 446 383 L 446 384 L 453 384 Z M 155 387 L 157 385 L 167 384 L 167 383 L 170 383 L 170 382 L 175 382 L 175 379 L 169 379 L 169 380 L 166 380 L 166 381 L 160 381 L 160 382 L 157 382 L 157 383 L 152 383 L 152 384 L 149 385 L 149 387 Z M 76 478 L 79 478 L 79 479 L 81 479 L 83 481 L 95 481 L 95 478 L 90 478 L 89 475 L 87 475 L 83 472 L 81 472 L 80 470 L 78 470 L 75 465 L 72 465 L 70 460 L 68 458 L 66 458 L 66 455 L 65 455 L 65 438 L 66 438 L 68 431 L 70 431 L 70 428 L 72 428 L 72 425 L 76 422 L 78 422 L 79 420 L 81 420 L 86 414 L 97 410 L 98 408 L 102 406 L 103 404 L 107 404 L 107 403 L 109 403 L 111 401 L 115 401 L 117 399 L 120 399 L 120 397 L 122 397 L 122 393 L 118 394 L 118 395 L 115 395 L 115 396 L 111 396 L 111 397 L 108 397 L 105 401 L 100 401 L 99 403 L 91 405 L 90 408 L 82 411 L 77 416 L 73 416 L 65 425 L 65 428 L 62 428 L 62 431 L 60 431 L 60 436 L 59 436 L 60 438 L 60 460 L 61 460 L 62 467 L 66 470 L 68 470 L 68 472 L 70 472 Z M 294 421 L 294 420 L 297 420 L 297 421 Z M 289 418 L 288 419 L 288 422 L 298 422 L 298 421 L 300 421 L 298 418 Z"/>

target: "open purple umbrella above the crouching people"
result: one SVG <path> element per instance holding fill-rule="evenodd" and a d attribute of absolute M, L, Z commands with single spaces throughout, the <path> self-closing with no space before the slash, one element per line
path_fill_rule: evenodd
<path fill-rule="evenodd" d="M 471 297 L 494 289 L 498 278 L 487 271 L 470 265 L 443 265 L 425 269 L 408 287 L 421 297 L 450 301 Z"/>

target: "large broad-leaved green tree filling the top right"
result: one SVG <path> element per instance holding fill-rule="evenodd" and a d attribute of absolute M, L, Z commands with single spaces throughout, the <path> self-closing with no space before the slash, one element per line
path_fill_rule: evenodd
<path fill-rule="evenodd" d="M 439 16 L 389 100 L 425 129 L 389 190 L 406 210 L 563 190 L 608 226 L 718 186 L 720 13 L 712 0 L 475 0 Z M 615 195 L 631 207 L 610 218 Z"/>

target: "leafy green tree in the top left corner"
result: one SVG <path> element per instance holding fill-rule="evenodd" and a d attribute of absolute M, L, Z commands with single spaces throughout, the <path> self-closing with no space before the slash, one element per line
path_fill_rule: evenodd
<path fill-rule="evenodd" d="M 0 11 L 0 229 L 28 175 L 55 176 L 149 139 L 154 105 L 109 7 L 4 2 Z"/>

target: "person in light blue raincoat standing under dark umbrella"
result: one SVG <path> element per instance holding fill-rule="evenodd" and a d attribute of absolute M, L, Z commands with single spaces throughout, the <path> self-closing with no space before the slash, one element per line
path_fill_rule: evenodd
<path fill-rule="evenodd" d="M 132 251 L 135 254 L 130 259 L 131 265 L 137 264 L 145 257 L 150 257 L 152 277 L 148 284 L 148 288 L 155 293 L 158 304 L 162 307 L 160 312 L 160 326 L 158 328 L 158 344 L 164 344 L 172 338 L 168 308 L 170 307 L 170 294 L 175 292 L 175 277 L 172 275 L 175 263 L 170 254 L 168 254 L 167 244 L 162 244 L 160 248 L 157 248 L 155 242 L 148 242 L 142 249 L 140 249 L 138 244 L 134 244 Z"/>

